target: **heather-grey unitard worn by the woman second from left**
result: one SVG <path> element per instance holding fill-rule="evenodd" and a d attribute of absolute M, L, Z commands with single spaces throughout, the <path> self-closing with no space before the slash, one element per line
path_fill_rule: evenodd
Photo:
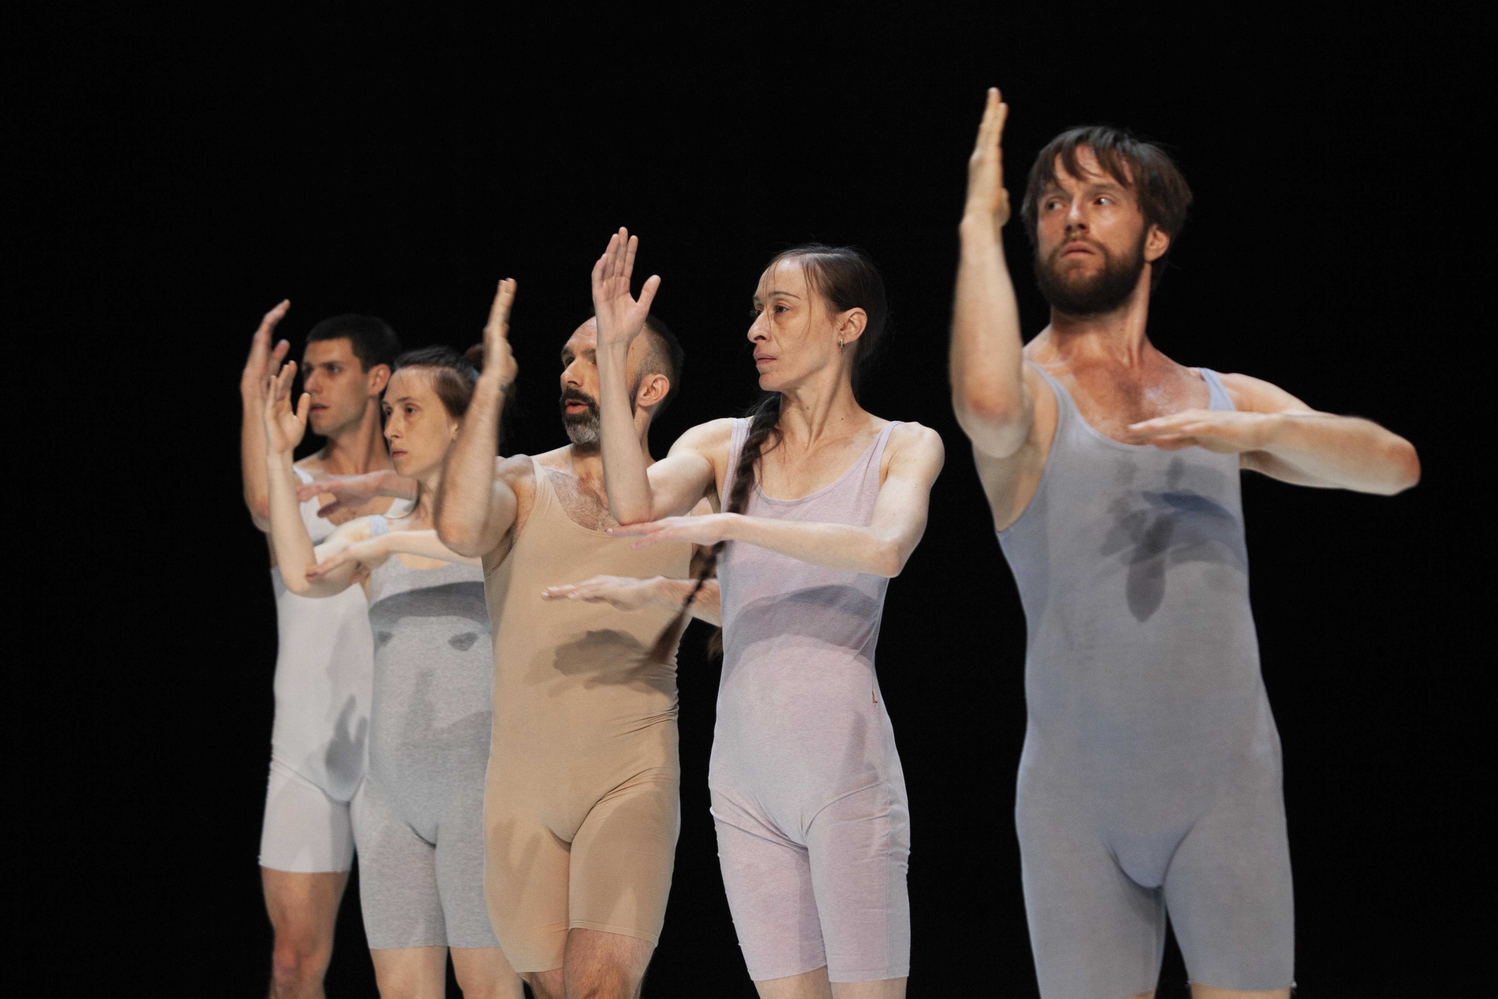
<path fill-rule="evenodd" d="M 383 517 L 372 535 L 388 530 Z M 370 574 L 374 693 L 360 903 L 374 950 L 499 947 L 484 906 L 484 768 L 494 661 L 484 572 Z"/>

